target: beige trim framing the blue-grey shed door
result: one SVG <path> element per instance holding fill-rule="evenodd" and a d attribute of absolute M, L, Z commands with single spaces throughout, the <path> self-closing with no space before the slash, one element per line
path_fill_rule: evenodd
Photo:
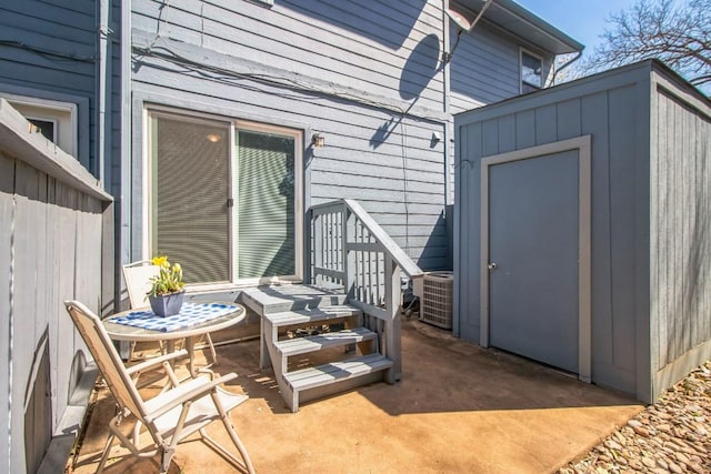
<path fill-rule="evenodd" d="M 547 154 L 578 150 L 578 377 L 590 383 L 592 374 L 591 327 L 591 135 L 515 150 L 481 159 L 481 265 L 479 343 L 489 346 L 489 168 L 495 164 L 529 160 Z"/>

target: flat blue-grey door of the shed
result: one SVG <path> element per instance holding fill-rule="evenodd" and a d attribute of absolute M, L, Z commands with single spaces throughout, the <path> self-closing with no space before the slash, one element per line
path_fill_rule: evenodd
<path fill-rule="evenodd" d="M 490 344 L 574 373 L 578 167 L 578 150 L 489 167 Z"/>

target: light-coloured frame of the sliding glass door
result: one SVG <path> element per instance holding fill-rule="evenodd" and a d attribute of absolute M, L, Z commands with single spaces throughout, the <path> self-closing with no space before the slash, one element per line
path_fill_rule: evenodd
<path fill-rule="evenodd" d="M 283 137 L 290 137 L 294 141 L 294 275 L 281 275 L 278 278 L 259 278 L 259 279 L 237 279 L 238 275 L 238 264 L 239 264 L 239 255 L 237 255 L 237 239 L 238 239 L 238 206 L 232 206 L 228 216 L 228 225 L 230 230 L 229 236 L 229 268 L 230 268 L 230 281 L 228 282 L 208 282 L 208 283 L 193 283 L 188 285 L 188 289 L 191 291 L 214 291 L 214 290 L 226 290 L 232 289 L 234 286 L 248 286 L 254 284 L 268 284 L 268 283 L 279 283 L 279 282 L 300 282 L 303 281 L 304 272 L 303 272 L 303 242 L 304 242 L 304 199 L 303 199 L 303 186 L 304 186 L 304 169 L 303 169 L 303 137 L 306 131 L 299 128 L 290 128 L 277 124 L 270 124 L 267 122 L 259 122 L 253 120 L 244 120 L 239 118 L 229 118 L 221 114 L 212 114 L 200 111 L 188 111 L 180 108 L 148 103 L 144 102 L 143 113 L 142 113 L 142 163 L 141 163 L 141 174 L 142 174 L 142 245 L 141 252 L 144 258 L 149 258 L 151 255 L 151 248 L 153 244 L 152 241 L 152 214 L 153 214 L 153 203 L 152 203 L 152 194 L 153 194 L 153 165 L 152 165 L 152 143 L 151 143 L 151 119 L 153 117 L 168 117 L 174 118 L 180 117 L 188 120 L 196 121 L 209 121 L 209 122 L 221 122 L 228 124 L 230 127 L 229 132 L 229 172 L 230 177 L 228 179 L 228 192 L 229 195 L 234 199 L 234 194 L 238 190 L 238 165 L 237 163 L 237 133 L 239 130 L 246 131 L 254 131 L 261 133 L 272 133 Z"/>

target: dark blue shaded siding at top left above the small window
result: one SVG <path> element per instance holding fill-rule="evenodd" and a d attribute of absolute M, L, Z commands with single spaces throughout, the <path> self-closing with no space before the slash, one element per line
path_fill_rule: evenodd
<path fill-rule="evenodd" d="M 87 117 L 79 119 L 80 161 L 87 168 L 94 157 L 94 91 L 97 24 L 94 1 L 68 0 L 61 6 L 39 0 L 3 2 L 0 7 L 0 30 L 3 40 L 17 41 L 41 50 L 58 51 L 88 60 L 56 58 L 26 49 L 0 46 L 0 91 L 8 87 L 56 93 L 58 101 L 71 95 L 87 99 Z M 29 93 L 31 94 L 31 93 Z M 84 129 L 81 129 L 86 124 Z M 89 148 L 81 145 L 89 132 Z"/>

